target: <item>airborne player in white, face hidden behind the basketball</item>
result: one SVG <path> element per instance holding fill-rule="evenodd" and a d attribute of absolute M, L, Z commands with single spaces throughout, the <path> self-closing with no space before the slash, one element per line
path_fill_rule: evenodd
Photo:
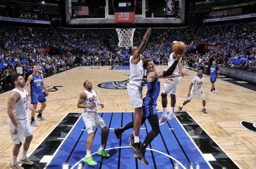
<path fill-rule="evenodd" d="M 177 41 L 173 41 L 172 45 L 176 42 Z M 177 57 L 176 53 L 170 54 L 170 57 L 168 59 L 168 67 L 170 67 L 173 64 L 176 57 Z M 181 58 L 180 58 L 178 65 L 176 66 L 173 73 L 182 74 L 182 76 L 184 77 L 184 74 L 182 73 Z M 179 84 L 180 80 L 181 80 L 181 77 L 167 79 L 164 84 L 164 89 L 161 94 L 163 114 L 162 114 L 161 118 L 159 119 L 159 124 L 164 123 L 165 121 L 169 120 L 170 118 L 175 118 L 174 107 L 176 104 L 176 92 L 177 92 L 177 88 L 178 88 L 178 84 Z M 170 93 L 170 95 L 171 95 L 171 112 L 167 116 L 166 111 L 167 111 L 167 103 L 168 103 L 168 101 L 167 101 L 168 93 Z"/>

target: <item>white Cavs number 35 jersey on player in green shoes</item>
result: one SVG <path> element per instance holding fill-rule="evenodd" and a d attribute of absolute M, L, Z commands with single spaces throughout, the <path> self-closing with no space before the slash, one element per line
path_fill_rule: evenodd
<path fill-rule="evenodd" d="M 97 112 L 97 102 L 98 102 L 98 96 L 94 90 L 92 90 L 92 93 L 88 92 L 87 90 L 84 90 L 84 92 L 87 94 L 86 99 L 84 99 L 83 104 L 92 104 L 94 105 L 94 108 L 84 108 L 84 112 Z"/>

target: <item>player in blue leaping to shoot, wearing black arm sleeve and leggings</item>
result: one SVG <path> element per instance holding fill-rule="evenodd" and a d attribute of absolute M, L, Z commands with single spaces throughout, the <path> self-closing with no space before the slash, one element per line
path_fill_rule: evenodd
<path fill-rule="evenodd" d="M 146 80 L 148 85 L 148 91 L 146 97 L 143 99 L 143 117 L 141 125 L 148 119 L 149 124 L 151 125 L 152 130 L 145 137 L 144 142 L 140 145 L 134 142 L 134 136 L 131 135 L 129 139 L 132 141 L 130 146 L 134 149 L 134 156 L 146 165 L 148 165 L 147 160 L 145 159 L 145 150 L 148 144 L 159 134 L 160 128 L 158 123 L 158 116 L 156 110 L 156 100 L 160 92 L 160 79 L 159 78 L 173 78 L 182 76 L 182 74 L 172 74 L 175 67 L 177 66 L 178 60 L 182 57 L 185 51 L 176 57 L 176 60 L 167 71 L 156 71 L 155 64 L 152 59 L 146 59 L 143 61 L 143 67 L 148 71 L 146 74 Z M 127 125 L 114 129 L 116 137 L 119 139 L 120 134 L 124 130 L 130 129 L 133 127 L 133 123 L 130 122 Z"/>

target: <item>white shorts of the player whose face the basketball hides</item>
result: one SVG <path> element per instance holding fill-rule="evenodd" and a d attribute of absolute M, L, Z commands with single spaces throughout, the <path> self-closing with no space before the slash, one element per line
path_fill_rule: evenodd
<path fill-rule="evenodd" d="M 181 80 L 181 76 L 180 77 L 175 77 L 172 79 L 167 79 L 164 83 L 164 89 L 163 89 L 163 93 L 164 94 L 172 94 L 172 95 L 176 95 L 177 89 L 178 89 L 178 84 Z"/>

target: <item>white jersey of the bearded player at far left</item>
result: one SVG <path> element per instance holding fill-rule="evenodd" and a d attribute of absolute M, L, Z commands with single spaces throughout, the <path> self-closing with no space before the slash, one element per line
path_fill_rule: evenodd
<path fill-rule="evenodd" d="M 20 91 L 14 88 L 12 92 L 18 92 L 20 94 L 20 100 L 17 101 L 14 105 L 13 113 L 16 120 L 26 119 L 29 114 L 29 96 L 28 92 L 24 89 L 24 91 Z"/>

